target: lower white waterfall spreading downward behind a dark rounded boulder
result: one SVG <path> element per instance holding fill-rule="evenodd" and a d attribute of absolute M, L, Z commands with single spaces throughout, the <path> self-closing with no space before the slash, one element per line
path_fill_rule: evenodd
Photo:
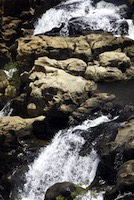
<path fill-rule="evenodd" d="M 94 149 L 87 156 L 79 155 L 85 142 L 81 133 L 109 121 L 108 117 L 101 116 L 95 120 L 86 120 L 68 130 L 59 131 L 52 142 L 42 148 L 39 156 L 29 165 L 25 175 L 26 183 L 20 190 L 21 199 L 43 200 L 46 190 L 54 183 L 62 181 L 88 186 L 95 177 L 99 158 Z M 82 199 L 90 199 L 89 197 L 91 198 L 90 192 Z M 103 199 L 101 193 L 97 199 Z"/>

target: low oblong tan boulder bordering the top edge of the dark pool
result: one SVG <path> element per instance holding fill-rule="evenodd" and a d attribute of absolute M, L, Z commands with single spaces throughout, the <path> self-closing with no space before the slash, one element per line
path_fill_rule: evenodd
<path fill-rule="evenodd" d="M 128 72 L 127 72 L 128 73 Z M 129 75 L 128 75 L 129 76 Z M 123 73 L 116 67 L 88 66 L 85 72 L 87 80 L 112 82 L 124 79 Z"/>

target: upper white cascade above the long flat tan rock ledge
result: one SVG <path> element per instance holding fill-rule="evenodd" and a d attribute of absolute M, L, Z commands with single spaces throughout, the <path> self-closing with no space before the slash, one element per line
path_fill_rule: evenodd
<path fill-rule="evenodd" d="M 125 19 L 127 10 L 126 4 L 116 6 L 105 1 L 95 4 L 92 0 L 67 0 L 43 14 L 34 35 L 54 28 L 60 29 L 60 35 L 69 35 L 69 27 L 73 23 L 78 29 L 104 30 L 115 35 L 126 34 L 134 39 L 134 24 L 132 20 Z"/>

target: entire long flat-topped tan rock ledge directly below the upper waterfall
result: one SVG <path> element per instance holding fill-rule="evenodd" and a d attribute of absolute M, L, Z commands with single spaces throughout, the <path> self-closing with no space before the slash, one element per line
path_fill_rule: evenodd
<path fill-rule="evenodd" d="M 18 40 L 17 59 L 20 62 L 21 72 L 24 72 L 24 70 L 29 71 L 31 69 L 34 60 L 38 57 L 47 56 L 57 60 L 79 58 L 87 63 L 93 61 L 93 58 L 97 59 L 98 55 L 102 52 L 111 52 L 119 48 L 121 50 L 132 45 L 133 40 L 123 37 L 116 38 L 110 34 L 90 34 L 71 38 L 43 35 L 30 36 Z M 120 57 L 121 55 L 124 55 L 126 59 L 125 62 L 128 62 L 124 64 L 125 67 L 129 67 L 129 58 L 127 58 L 125 54 L 120 54 Z M 119 64 L 118 62 L 118 65 Z M 126 64 L 128 64 L 128 66 L 126 66 Z"/>

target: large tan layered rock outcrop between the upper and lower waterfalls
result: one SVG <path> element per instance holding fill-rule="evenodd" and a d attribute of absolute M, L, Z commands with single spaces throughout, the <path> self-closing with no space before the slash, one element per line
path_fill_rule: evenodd
<path fill-rule="evenodd" d="M 16 58 L 29 116 L 80 116 L 80 110 L 86 114 L 88 108 L 100 105 L 94 97 L 94 82 L 134 78 L 134 55 L 129 51 L 134 42 L 128 38 L 110 34 L 30 36 L 17 42 Z M 108 98 L 102 95 L 100 99 Z"/>

